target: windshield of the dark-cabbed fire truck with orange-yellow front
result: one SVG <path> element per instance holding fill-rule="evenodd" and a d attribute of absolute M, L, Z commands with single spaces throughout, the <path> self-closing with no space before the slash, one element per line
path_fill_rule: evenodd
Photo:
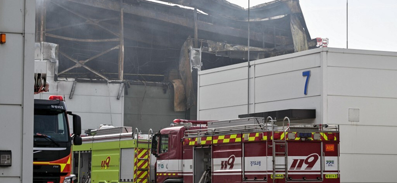
<path fill-rule="evenodd" d="M 35 110 L 33 126 L 34 141 L 49 141 L 43 136 L 51 138 L 50 141 L 66 142 L 69 140 L 65 111 Z"/>

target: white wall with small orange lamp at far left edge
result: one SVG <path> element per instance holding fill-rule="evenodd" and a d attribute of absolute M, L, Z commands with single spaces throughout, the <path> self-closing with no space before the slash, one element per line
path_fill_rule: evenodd
<path fill-rule="evenodd" d="M 33 181 L 34 0 L 0 0 L 0 150 L 11 150 L 0 183 Z"/>

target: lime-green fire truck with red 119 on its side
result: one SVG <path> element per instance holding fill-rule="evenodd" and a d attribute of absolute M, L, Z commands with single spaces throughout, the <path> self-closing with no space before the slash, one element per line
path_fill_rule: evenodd
<path fill-rule="evenodd" d="M 73 146 L 75 183 L 149 183 L 151 136 L 132 127 L 102 126 Z M 155 162 L 155 160 L 153 160 Z M 154 174 L 154 172 L 153 172 Z"/>

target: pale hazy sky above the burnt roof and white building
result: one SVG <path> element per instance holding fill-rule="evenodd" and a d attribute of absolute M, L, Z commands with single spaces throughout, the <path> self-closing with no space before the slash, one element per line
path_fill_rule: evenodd
<path fill-rule="evenodd" d="M 228 0 L 244 8 L 248 0 Z M 250 0 L 250 6 L 272 0 Z M 346 0 L 300 0 L 312 39 L 346 48 Z M 348 0 L 348 46 L 397 51 L 397 0 Z"/>

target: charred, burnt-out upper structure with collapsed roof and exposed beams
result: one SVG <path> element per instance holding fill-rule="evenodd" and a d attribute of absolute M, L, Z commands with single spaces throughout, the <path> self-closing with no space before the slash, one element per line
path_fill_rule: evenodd
<path fill-rule="evenodd" d="M 299 0 L 251 7 L 249 17 L 226 0 L 37 0 L 36 42 L 59 44 L 58 77 L 146 82 L 181 77 L 189 37 L 201 70 L 246 62 L 248 35 L 250 60 L 316 46 Z"/>

